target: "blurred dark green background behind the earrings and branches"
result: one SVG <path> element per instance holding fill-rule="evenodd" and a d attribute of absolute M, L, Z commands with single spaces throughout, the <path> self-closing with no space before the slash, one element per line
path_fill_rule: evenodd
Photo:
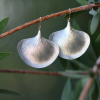
<path fill-rule="evenodd" d="M 0 20 L 9 17 L 9 22 L 3 32 L 39 17 L 78 6 L 80 5 L 75 0 L 0 0 Z M 48 39 L 52 32 L 65 28 L 67 20 L 63 17 L 43 21 L 42 36 Z M 81 29 L 87 32 L 87 22 L 91 17 L 86 11 L 71 19 L 71 22 L 76 20 Z M 17 44 L 22 39 L 34 37 L 37 30 L 38 24 L 35 24 L 0 40 L 0 52 L 12 53 L 0 61 L 0 69 L 36 70 L 21 60 Z M 58 58 L 48 68 L 64 70 Z M 0 73 L 0 88 L 25 95 L 23 98 L 0 94 L 0 100 L 61 100 L 65 82 L 66 78 L 61 76 Z"/>

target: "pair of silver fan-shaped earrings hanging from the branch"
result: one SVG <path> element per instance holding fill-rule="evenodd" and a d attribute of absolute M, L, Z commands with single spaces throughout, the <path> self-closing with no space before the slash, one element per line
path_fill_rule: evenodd
<path fill-rule="evenodd" d="M 17 49 L 26 64 L 35 68 L 44 68 L 53 63 L 58 55 L 69 60 L 80 57 L 85 53 L 89 44 L 88 34 L 73 29 L 69 18 L 67 27 L 52 33 L 49 40 L 41 36 L 40 22 L 38 34 L 33 38 L 21 40 Z"/>

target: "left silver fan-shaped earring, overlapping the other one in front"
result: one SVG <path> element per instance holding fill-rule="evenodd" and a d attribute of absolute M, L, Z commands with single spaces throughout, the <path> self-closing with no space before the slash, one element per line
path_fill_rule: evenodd
<path fill-rule="evenodd" d="M 38 34 L 35 37 L 23 39 L 17 46 L 22 60 L 29 66 L 35 68 L 44 68 L 50 65 L 59 55 L 57 44 L 43 38 L 40 29 L 41 24 L 39 25 Z"/>

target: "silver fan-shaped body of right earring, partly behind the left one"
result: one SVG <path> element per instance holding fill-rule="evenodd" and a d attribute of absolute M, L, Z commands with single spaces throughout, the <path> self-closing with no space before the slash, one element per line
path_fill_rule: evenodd
<path fill-rule="evenodd" d="M 73 29 L 70 20 L 65 29 L 52 33 L 49 39 L 59 46 L 59 56 L 69 60 L 84 54 L 90 44 L 89 35 Z"/>

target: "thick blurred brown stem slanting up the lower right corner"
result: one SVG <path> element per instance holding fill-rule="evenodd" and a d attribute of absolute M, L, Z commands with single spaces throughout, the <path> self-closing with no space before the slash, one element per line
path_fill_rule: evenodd
<path fill-rule="evenodd" d="M 99 67 L 100 67 L 100 57 L 98 58 L 98 60 L 96 62 L 96 65 L 93 67 L 93 72 L 94 72 L 95 75 L 97 75 L 96 73 L 98 73 L 98 68 Z M 85 100 L 93 81 L 94 81 L 94 77 L 90 77 L 87 80 L 87 83 L 85 84 L 85 86 L 83 88 L 83 91 L 82 91 L 82 93 L 81 93 L 78 100 Z"/>

